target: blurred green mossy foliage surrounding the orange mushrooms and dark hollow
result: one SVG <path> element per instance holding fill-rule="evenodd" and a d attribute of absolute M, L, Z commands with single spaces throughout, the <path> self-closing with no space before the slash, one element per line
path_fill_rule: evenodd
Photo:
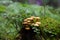
<path fill-rule="evenodd" d="M 15 40 L 23 27 L 22 22 L 30 16 L 41 17 L 39 29 L 45 39 L 60 37 L 60 10 L 49 6 L 27 5 L 13 3 L 0 5 L 0 40 Z"/>

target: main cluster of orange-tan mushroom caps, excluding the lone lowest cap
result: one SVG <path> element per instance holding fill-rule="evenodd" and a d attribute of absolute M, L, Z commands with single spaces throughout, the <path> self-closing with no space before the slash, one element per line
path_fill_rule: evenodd
<path fill-rule="evenodd" d="M 29 18 L 24 19 L 23 21 L 23 25 L 25 26 L 40 26 L 41 22 L 40 22 L 40 17 L 35 17 L 35 16 L 31 16 Z"/>

